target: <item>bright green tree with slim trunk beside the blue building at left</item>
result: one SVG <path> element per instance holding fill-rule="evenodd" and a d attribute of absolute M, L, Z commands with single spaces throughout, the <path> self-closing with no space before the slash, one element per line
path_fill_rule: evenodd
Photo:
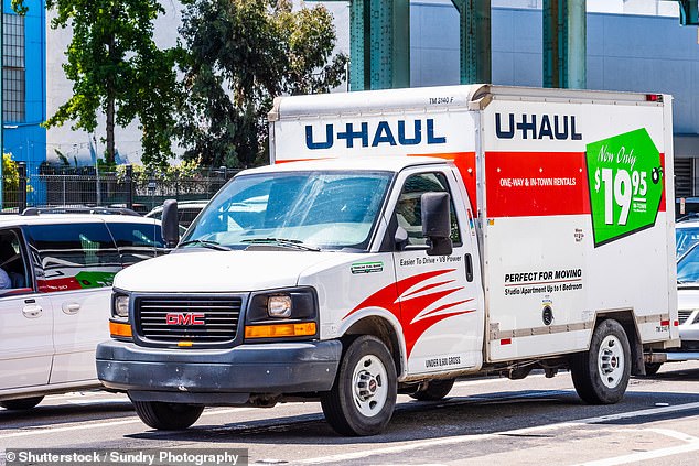
<path fill-rule="evenodd" d="M 138 119 L 143 163 L 166 165 L 172 156 L 173 110 L 180 98 L 179 47 L 160 50 L 153 42 L 153 21 L 164 12 L 160 2 L 46 0 L 46 9 L 56 11 L 51 28 L 73 32 L 63 65 L 73 82 L 73 96 L 45 126 L 71 120 L 73 129 L 94 132 L 97 113 L 104 112 L 105 162 L 114 164 L 115 126 L 126 127 Z"/>

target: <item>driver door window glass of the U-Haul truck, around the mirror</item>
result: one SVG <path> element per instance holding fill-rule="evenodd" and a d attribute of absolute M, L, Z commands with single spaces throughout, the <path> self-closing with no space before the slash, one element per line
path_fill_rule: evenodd
<path fill-rule="evenodd" d="M 422 194 L 430 192 L 449 193 L 449 184 L 443 173 L 420 173 L 409 176 L 398 197 L 396 219 L 398 220 L 398 226 L 408 232 L 409 245 L 427 245 L 427 238 L 422 236 L 422 208 L 420 197 Z M 451 240 L 454 246 L 461 246 L 461 234 L 459 230 L 459 221 L 456 220 L 453 196 L 450 201 L 450 210 Z"/>

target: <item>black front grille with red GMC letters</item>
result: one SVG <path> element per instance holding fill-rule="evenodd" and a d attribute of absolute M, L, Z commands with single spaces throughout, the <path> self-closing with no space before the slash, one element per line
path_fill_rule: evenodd
<path fill-rule="evenodd" d="M 139 297 L 137 330 L 141 337 L 160 343 L 233 342 L 241 306 L 243 300 L 236 296 Z"/>

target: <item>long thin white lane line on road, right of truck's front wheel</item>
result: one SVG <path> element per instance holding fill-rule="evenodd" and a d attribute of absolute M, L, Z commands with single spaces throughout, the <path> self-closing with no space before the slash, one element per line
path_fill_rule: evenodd
<path fill-rule="evenodd" d="M 370 451 L 365 451 L 365 452 L 353 452 L 353 453 L 344 453 L 338 455 L 322 456 L 316 458 L 308 458 L 308 459 L 299 462 L 299 464 L 314 465 L 314 464 L 324 464 L 324 463 L 333 463 L 333 462 L 342 462 L 342 460 L 351 460 L 351 459 L 361 459 L 361 458 L 366 458 L 366 457 L 375 456 L 375 455 L 404 453 L 411 449 L 433 447 L 439 445 L 454 445 L 460 443 L 481 442 L 485 440 L 497 438 L 502 435 L 524 435 L 524 434 L 530 434 L 534 432 L 546 432 L 546 431 L 569 429 L 569 427 L 576 427 L 576 426 L 585 425 L 585 424 L 598 424 L 598 423 L 606 422 L 606 421 L 617 421 L 622 419 L 639 418 L 645 415 L 663 414 L 668 412 L 688 411 L 688 410 L 693 410 L 698 408 L 699 408 L 699 403 L 686 403 L 686 404 L 679 404 L 677 407 L 652 408 L 647 410 L 631 411 L 625 413 L 607 414 L 607 415 L 602 415 L 596 418 L 580 419 L 577 421 L 537 425 L 535 427 L 516 429 L 514 431 L 495 432 L 492 434 L 475 434 L 475 435 L 460 435 L 460 436 L 444 437 L 444 438 L 428 438 L 423 441 L 410 442 L 404 445 L 389 446 L 385 448 L 373 448 Z"/>

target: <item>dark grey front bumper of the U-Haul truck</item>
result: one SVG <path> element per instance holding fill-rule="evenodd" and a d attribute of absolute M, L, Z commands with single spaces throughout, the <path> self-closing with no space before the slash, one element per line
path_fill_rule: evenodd
<path fill-rule="evenodd" d="M 227 349 L 163 349 L 109 340 L 97 346 L 105 387 L 137 401 L 245 404 L 251 394 L 327 391 L 342 355 L 340 340 L 240 345 Z"/>

